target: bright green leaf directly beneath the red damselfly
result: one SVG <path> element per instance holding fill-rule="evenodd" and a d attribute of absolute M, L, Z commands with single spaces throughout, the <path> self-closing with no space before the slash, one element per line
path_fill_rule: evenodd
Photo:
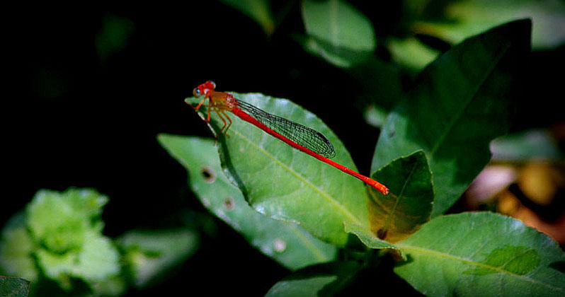
<path fill-rule="evenodd" d="M 312 113 L 285 99 L 258 93 L 232 95 L 321 132 L 336 148 L 333 160 L 355 170 L 341 141 Z M 200 99 L 187 98 L 186 102 L 195 105 Z M 200 109 L 202 117 L 204 110 Z M 317 238 L 339 246 L 348 241 L 344 221 L 368 224 L 363 182 L 230 116 L 233 124 L 229 136 L 219 138 L 220 158 L 253 209 L 273 219 L 299 223 Z M 215 114 L 211 122 L 214 127 L 222 127 Z"/>

